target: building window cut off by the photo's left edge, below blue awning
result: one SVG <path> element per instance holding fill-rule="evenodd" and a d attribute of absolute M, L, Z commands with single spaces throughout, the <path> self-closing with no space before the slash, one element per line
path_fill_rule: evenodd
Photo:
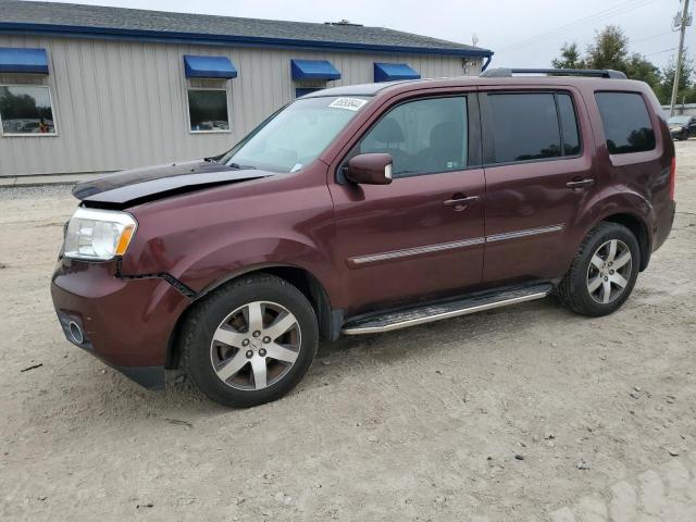
<path fill-rule="evenodd" d="M 51 91 L 40 85 L 0 85 L 4 136 L 54 136 Z"/>

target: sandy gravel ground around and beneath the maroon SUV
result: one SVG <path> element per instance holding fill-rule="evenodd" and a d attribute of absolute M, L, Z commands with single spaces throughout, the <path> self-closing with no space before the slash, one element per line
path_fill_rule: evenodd
<path fill-rule="evenodd" d="M 696 520 L 696 140 L 678 150 L 672 236 L 616 314 L 547 299 L 343 339 L 250 410 L 64 340 L 75 201 L 0 190 L 0 520 Z"/>

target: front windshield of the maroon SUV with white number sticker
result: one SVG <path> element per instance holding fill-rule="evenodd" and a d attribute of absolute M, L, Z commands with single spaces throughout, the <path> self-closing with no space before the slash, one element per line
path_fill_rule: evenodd
<path fill-rule="evenodd" d="M 275 172 L 299 171 L 331 144 L 366 102 L 365 97 L 299 99 L 261 123 L 220 162 Z"/>

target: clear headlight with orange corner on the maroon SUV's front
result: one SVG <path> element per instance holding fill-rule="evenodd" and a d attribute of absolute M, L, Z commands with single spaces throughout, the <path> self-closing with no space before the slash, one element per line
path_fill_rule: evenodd
<path fill-rule="evenodd" d="M 67 223 L 63 256 L 90 261 L 123 256 L 137 226 L 135 217 L 126 212 L 80 207 Z"/>

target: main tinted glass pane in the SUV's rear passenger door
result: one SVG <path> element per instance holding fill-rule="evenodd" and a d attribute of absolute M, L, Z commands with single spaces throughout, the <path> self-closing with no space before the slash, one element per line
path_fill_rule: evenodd
<path fill-rule="evenodd" d="M 554 95 L 488 95 L 495 162 L 561 156 L 561 135 Z"/>

